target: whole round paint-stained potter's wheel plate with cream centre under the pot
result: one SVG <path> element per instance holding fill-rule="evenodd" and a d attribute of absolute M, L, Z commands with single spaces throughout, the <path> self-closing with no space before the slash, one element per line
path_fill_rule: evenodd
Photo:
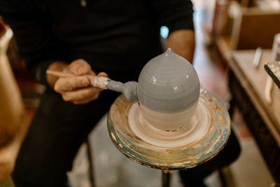
<path fill-rule="evenodd" d="M 137 105 L 127 102 L 120 95 L 109 111 L 109 134 L 121 153 L 141 165 L 158 169 L 195 167 L 221 151 L 230 134 L 228 111 L 214 95 L 201 89 L 197 107 L 199 112 L 192 119 L 195 125 L 191 125 L 190 129 L 155 132 L 151 127 L 147 130 L 137 116 Z M 129 123 L 129 116 L 136 117 L 133 120 L 135 124 Z M 201 119 L 200 116 L 207 118 Z M 197 129 L 200 129 L 200 134 L 193 135 Z M 155 134 L 151 136 L 152 132 Z M 190 138 L 192 135 L 193 138 Z"/>

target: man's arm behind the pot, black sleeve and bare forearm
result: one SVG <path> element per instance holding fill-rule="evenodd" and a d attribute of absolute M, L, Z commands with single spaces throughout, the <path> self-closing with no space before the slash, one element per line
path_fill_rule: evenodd
<path fill-rule="evenodd" d="M 148 8 L 158 24 L 169 28 L 165 50 L 172 48 L 175 53 L 193 62 L 195 33 L 193 27 L 193 4 L 190 0 L 152 0 Z"/>

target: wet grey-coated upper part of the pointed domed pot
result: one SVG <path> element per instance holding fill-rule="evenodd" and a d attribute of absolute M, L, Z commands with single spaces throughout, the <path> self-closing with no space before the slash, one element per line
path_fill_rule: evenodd
<path fill-rule="evenodd" d="M 169 48 L 150 60 L 139 76 L 139 102 L 152 111 L 186 111 L 200 97 L 200 81 L 193 65 Z"/>

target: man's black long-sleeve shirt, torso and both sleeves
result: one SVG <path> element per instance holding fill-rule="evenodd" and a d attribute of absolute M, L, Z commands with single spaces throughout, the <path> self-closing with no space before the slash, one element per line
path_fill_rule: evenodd
<path fill-rule="evenodd" d="M 43 84 L 55 61 L 83 58 L 97 73 L 139 75 L 162 53 L 160 27 L 193 29 L 188 0 L 1 0 L 0 15 L 15 34 L 31 74 Z"/>

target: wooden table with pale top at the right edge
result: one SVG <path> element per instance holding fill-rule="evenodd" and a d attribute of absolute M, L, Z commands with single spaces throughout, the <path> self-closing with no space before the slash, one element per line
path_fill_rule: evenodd
<path fill-rule="evenodd" d="M 238 106 L 275 181 L 280 181 L 280 90 L 273 85 L 272 103 L 265 99 L 269 77 L 264 69 L 271 51 L 263 50 L 258 69 L 253 67 L 255 50 L 236 50 L 227 59 L 232 102 Z M 269 77 L 270 78 L 270 77 Z"/>

